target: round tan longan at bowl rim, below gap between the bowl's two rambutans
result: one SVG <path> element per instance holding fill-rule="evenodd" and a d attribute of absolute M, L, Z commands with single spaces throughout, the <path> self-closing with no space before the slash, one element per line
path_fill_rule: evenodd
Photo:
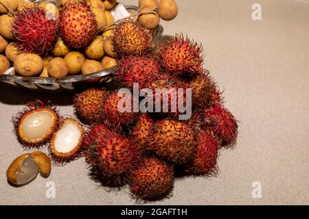
<path fill-rule="evenodd" d="M 62 57 L 55 57 L 54 59 L 49 61 L 47 66 L 47 73 L 49 77 L 66 77 L 69 73 L 67 65 L 65 64 L 65 60 Z"/>

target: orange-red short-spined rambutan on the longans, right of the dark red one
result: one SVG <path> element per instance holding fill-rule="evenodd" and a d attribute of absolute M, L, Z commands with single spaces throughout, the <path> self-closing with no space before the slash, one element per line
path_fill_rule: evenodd
<path fill-rule="evenodd" d="M 67 1 L 60 14 L 60 34 L 69 47 L 87 47 L 97 29 L 98 23 L 88 1 Z"/>

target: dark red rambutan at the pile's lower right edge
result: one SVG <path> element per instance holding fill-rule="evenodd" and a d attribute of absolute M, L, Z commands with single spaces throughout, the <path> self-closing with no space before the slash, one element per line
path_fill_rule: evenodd
<path fill-rule="evenodd" d="M 194 156 L 185 165 L 185 171 L 194 175 L 216 175 L 218 172 L 218 140 L 206 131 L 196 134 L 196 150 Z"/>

